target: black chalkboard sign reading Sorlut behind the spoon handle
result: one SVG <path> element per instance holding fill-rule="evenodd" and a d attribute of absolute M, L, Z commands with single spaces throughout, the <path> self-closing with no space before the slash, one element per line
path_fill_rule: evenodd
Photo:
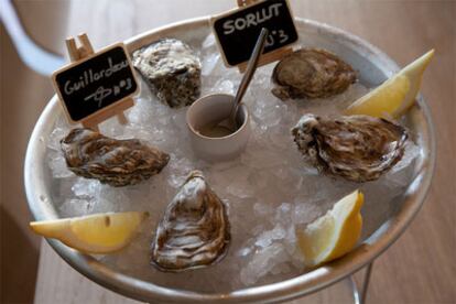
<path fill-rule="evenodd" d="M 263 54 L 297 41 L 297 32 L 286 0 L 267 0 L 229 11 L 211 21 L 225 63 L 247 62 L 262 28 L 269 30 Z"/>

